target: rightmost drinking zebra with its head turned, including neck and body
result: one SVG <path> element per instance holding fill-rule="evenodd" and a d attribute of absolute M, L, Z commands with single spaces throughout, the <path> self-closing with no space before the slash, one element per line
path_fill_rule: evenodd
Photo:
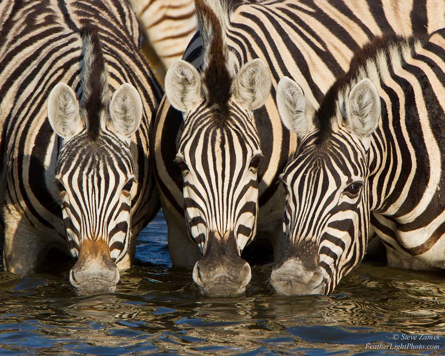
<path fill-rule="evenodd" d="M 356 53 L 318 110 L 283 77 L 277 104 L 301 142 L 282 175 L 283 295 L 328 294 L 374 231 L 388 265 L 445 268 L 445 29 L 386 35 Z"/>

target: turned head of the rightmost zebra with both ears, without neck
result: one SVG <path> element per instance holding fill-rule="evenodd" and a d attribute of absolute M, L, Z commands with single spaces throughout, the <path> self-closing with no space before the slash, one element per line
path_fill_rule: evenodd
<path fill-rule="evenodd" d="M 380 96 L 369 79 L 336 100 L 329 89 L 315 112 L 301 88 L 284 77 L 277 106 L 299 147 L 282 174 L 287 245 L 271 283 L 282 295 L 328 294 L 363 258 L 369 229 L 370 134 Z"/>

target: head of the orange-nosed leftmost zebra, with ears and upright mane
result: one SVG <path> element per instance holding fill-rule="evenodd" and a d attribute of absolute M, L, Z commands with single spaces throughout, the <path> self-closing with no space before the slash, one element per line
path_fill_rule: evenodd
<path fill-rule="evenodd" d="M 130 137 L 142 101 L 130 84 L 109 98 L 108 75 L 97 32 L 85 32 L 80 105 L 59 83 L 48 97 L 48 119 L 62 139 L 56 184 L 68 246 L 77 262 L 70 281 L 80 294 L 114 291 L 117 264 L 127 258 L 134 163 Z"/>

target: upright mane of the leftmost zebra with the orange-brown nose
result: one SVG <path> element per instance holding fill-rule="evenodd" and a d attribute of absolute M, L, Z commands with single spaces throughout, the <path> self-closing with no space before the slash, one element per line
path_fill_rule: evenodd
<path fill-rule="evenodd" d="M 108 71 L 105 67 L 97 27 L 85 25 L 80 33 L 83 56 L 80 74 L 82 87 L 80 114 L 86 124 L 89 137 L 95 140 L 101 131 L 101 123 L 104 122 L 105 112 L 110 102 Z"/>

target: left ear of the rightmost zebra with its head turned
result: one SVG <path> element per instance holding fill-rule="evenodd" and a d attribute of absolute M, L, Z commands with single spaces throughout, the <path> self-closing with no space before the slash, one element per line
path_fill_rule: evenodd
<path fill-rule="evenodd" d="M 298 137 L 303 137 L 315 127 L 312 120 L 314 108 L 306 102 L 303 90 L 292 79 L 280 79 L 276 103 L 283 125 L 289 131 L 296 132 Z"/>

